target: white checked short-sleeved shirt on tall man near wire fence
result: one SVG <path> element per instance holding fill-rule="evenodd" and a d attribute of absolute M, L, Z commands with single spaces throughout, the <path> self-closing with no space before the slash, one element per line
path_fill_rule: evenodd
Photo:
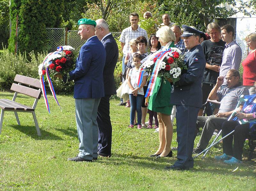
<path fill-rule="evenodd" d="M 122 31 L 119 41 L 125 43 L 123 49 L 124 55 L 126 55 L 131 50 L 129 45 L 130 40 L 137 39 L 139 36 L 145 36 L 148 41 L 147 31 L 145 31 L 143 28 L 140 28 L 139 26 L 135 31 L 132 30 L 132 26 L 129 26 Z"/>

